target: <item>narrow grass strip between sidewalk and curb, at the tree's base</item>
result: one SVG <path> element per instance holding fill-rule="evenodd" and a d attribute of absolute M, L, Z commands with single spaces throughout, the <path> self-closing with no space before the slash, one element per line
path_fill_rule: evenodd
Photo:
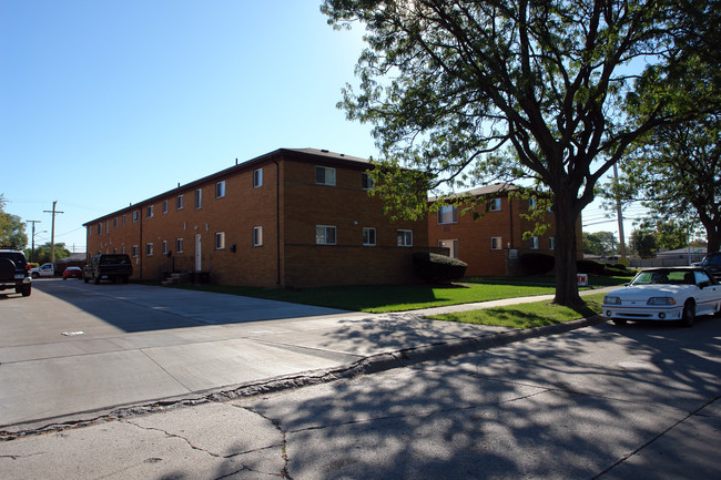
<path fill-rule="evenodd" d="M 498 327 L 531 328 L 545 325 L 587 318 L 601 313 L 603 294 L 583 296 L 586 305 L 563 307 L 551 302 L 534 302 L 508 307 L 485 308 L 455 314 L 434 315 L 435 320 L 459 321 L 464 324 L 492 325 Z"/>

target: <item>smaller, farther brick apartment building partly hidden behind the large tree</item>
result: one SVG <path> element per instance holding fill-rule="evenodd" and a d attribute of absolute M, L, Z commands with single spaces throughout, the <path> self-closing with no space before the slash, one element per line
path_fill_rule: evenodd
<path fill-rule="evenodd" d="M 430 246 L 446 247 L 450 256 L 468 264 L 467 276 L 524 275 L 520 262 L 524 254 L 540 253 L 554 256 L 556 222 L 548 212 L 544 223 L 549 225 L 542 236 L 524 239 L 524 232 L 532 232 L 535 221 L 521 217 L 535 207 L 532 198 L 509 196 L 514 185 L 495 184 L 471 190 L 465 194 L 486 198 L 475 213 L 461 215 L 468 205 L 444 206 L 428 216 Z M 431 198 L 433 202 L 433 198 Z M 582 258 L 581 219 L 577 223 L 578 259 Z"/>

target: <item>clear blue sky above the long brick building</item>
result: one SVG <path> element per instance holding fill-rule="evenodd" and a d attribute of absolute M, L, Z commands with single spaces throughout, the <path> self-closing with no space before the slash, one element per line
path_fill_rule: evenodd
<path fill-rule="evenodd" d="M 55 242 L 80 252 L 84 222 L 235 159 L 377 156 L 370 126 L 336 109 L 356 83 L 363 31 L 334 31 L 319 4 L 0 0 L 6 212 L 41 221 L 44 243 L 58 201 Z"/>

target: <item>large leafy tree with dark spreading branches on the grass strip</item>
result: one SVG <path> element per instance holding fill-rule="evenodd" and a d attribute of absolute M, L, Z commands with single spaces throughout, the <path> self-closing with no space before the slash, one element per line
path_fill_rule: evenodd
<path fill-rule="evenodd" d="M 423 187 L 521 177 L 545 185 L 556 215 L 556 302 L 570 305 L 580 303 L 576 222 L 595 185 L 639 135 L 677 120 L 657 109 L 631 124 L 622 109 L 633 68 L 679 48 L 683 16 L 671 7 L 325 0 L 322 11 L 334 27 L 366 28 L 359 92 L 346 86 L 342 105 L 375 125 L 378 193 L 419 215 Z"/>

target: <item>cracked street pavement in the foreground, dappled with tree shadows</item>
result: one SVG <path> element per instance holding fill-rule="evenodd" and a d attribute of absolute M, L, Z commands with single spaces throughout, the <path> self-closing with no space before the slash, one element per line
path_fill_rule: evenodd
<path fill-rule="evenodd" d="M 720 478 L 720 353 L 718 318 L 449 336 L 6 431 L 0 478 Z"/>

